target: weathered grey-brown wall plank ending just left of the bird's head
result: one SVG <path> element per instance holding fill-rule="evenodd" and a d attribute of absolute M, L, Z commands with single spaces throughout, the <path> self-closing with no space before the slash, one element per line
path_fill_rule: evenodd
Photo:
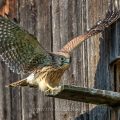
<path fill-rule="evenodd" d="M 52 16 L 51 0 L 36 0 L 37 38 L 47 51 L 52 51 Z M 44 93 L 37 96 L 38 119 L 54 120 L 54 100 Z"/>

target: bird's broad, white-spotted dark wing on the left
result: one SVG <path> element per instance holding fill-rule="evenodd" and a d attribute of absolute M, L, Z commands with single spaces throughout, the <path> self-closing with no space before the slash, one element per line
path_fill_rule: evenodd
<path fill-rule="evenodd" d="M 16 73 L 26 73 L 49 64 L 50 56 L 37 39 L 0 16 L 0 56 Z"/>

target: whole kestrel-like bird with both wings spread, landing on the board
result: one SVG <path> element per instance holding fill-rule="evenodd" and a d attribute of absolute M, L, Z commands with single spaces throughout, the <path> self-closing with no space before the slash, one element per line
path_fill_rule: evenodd
<path fill-rule="evenodd" d="M 57 52 L 48 52 L 37 38 L 9 18 L 0 16 L 0 57 L 9 69 L 27 77 L 10 83 L 7 87 L 33 86 L 43 92 L 59 88 L 61 77 L 69 69 L 72 51 L 120 18 L 119 10 L 109 11 L 84 34 L 70 40 Z"/>

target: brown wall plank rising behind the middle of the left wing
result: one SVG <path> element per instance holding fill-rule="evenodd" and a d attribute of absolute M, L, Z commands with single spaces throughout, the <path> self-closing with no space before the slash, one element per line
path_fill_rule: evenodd
<path fill-rule="evenodd" d="M 19 1 L 18 17 L 20 25 L 30 33 L 35 35 L 36 16 L 35 16 L 35 2 L 28 0 Z M 22 88 L 21 90 L 21 106 L 22 106 L 22 119 L 35 120 L 37 119 L 36 113 L 36 95 L 37 91 L 30 88 Z"/>

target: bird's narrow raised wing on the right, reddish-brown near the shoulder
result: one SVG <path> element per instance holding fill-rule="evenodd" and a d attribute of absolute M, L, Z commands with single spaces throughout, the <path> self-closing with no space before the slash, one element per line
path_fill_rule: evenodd
<path fill-rule="evenodd" d="M 120 18 L 120 11 L 115 8 L 114 10 L 108 11 L 106 17 L 103 20 L 100 20 L 94 25 L 90 30 L 88 30 L 85 34 L 80 35 L 76 38 L 73 38 L 70 42 L 68 42 L 60 52 L 71 53 L 73 49 L 75 49 L 80 43 L 89 37 L 96 35 L 102 32 L 105 28 L 109 27 L 112 23 L 114 23 L 117 19 Z"/>

